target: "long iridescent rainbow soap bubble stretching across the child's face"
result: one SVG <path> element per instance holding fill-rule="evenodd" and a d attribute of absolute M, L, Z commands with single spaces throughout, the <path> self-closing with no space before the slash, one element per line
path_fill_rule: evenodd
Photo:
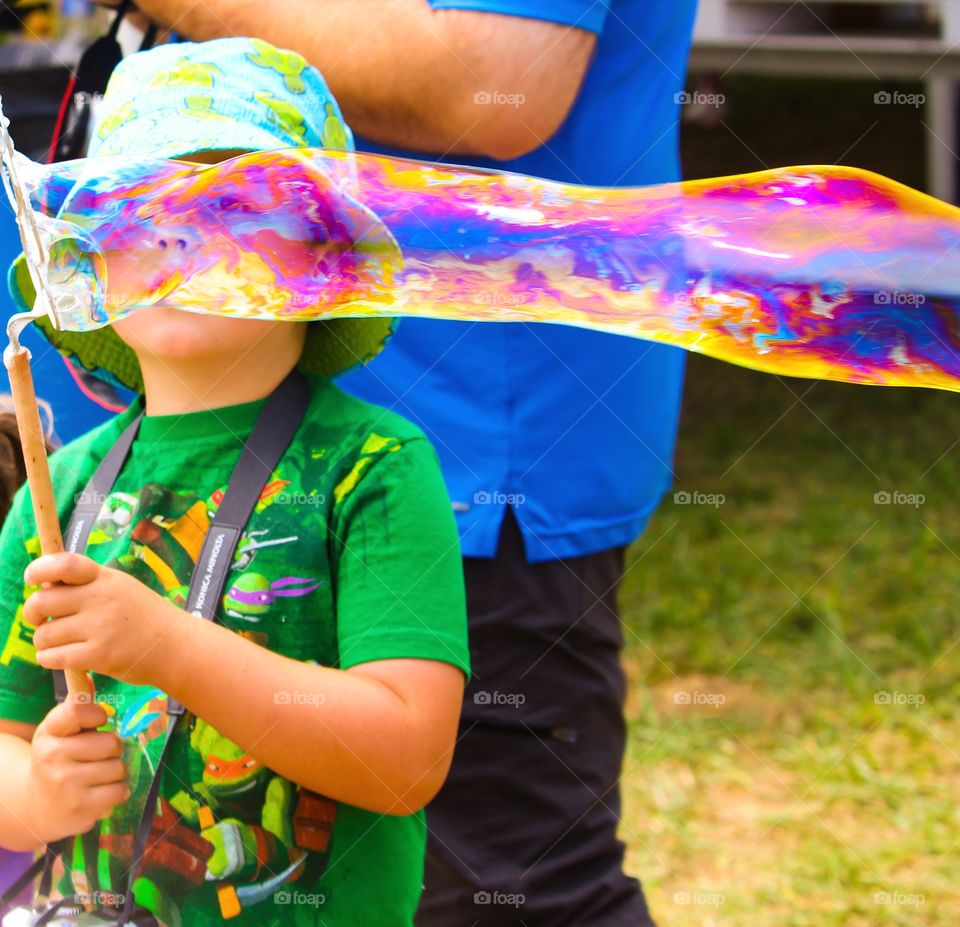
<path fill-rule="evenodd" d="M 960 390 L 960 210 L 856 168 L 607 189 L 313 149 L 30 167 L 45 234 L 69 241 L 51 246 L 68 329 L 153 305 L 551 322 Z"/>

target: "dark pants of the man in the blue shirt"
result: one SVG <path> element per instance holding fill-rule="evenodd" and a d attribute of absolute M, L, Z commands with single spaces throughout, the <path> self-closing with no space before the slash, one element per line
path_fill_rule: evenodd
<path fill-rule="evenodd" d="M 417 927 L 649 927 L 617 840 L 624 549 L 528 564 L 512 513 L 466 558 L 473 680 L 427 808 Z"/>

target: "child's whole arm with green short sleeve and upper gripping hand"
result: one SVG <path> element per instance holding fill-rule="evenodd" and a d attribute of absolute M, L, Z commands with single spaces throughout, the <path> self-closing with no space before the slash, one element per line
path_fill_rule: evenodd
<path fill-rule="evenodd" d="M 330 519 L 345 669 L 269 651 L 77 554 L 28 568 L 31 585 L 57 584 L 24 607 L 40 664 L 158 686 L 294 782 L 371 811 L 418 810 L 456 739 L 468 666 L 462 563 L 432 448 L 378 446 L 338 486 Z"/>

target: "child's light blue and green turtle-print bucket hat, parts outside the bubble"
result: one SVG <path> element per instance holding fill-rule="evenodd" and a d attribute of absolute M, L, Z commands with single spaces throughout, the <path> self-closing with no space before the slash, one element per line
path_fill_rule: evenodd
<path fill-rule="evenodd" d="M 353 136 L 320 72 L 295 52 L 249 38 L 161 45 L 125 58 L 96 114 L 87 156 L 183 158 L 198 152 L 310 147 L 352 151 Z M 21 255 L 10 268 L 14 301 L 30 309 L 35 290 Z M 370 360 L 396 319 L 310 322 L 299 367 L 332 376 Z M 74 364 L 141 392 L 134 352 L 109 326 L 41 332 Z"/>

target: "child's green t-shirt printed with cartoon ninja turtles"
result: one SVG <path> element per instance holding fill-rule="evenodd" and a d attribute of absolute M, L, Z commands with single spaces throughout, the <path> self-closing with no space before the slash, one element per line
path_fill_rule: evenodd
<path fill-rule="evenodd" d="M 459 545 L 433 448 L 399 416 L 329 380 L 310 384 L 306 417 L 247 524 L 218 620 L 270 650 L 324 666 L 421 658 L 468 672 Z M 263 402 L 145 417 L 87 554 L 184 604 L 210 517 Z M 62 525 L 141 408 L 142 400 L 53 455 Z M 38 554 L 21 490 L 0 534 L 0 717 L 32 724 L 55 704 L 52 675 L 38 666 L 22 622 L 32 591 L 23 571 Z M 125 889 L 166 696 L 107 676 L 95 683 L 124 739 L 133 794 L 73 841 L 58 884 L 64 892 L 116 894 Z M 278 687 L 275 699 L 284 698 Z M 151 838 L 159 842 L 135 886 L 138 903 L 164 924 L 220 924 L 221 904 L 238 903 L 237 927 L 411 924 L 423 875 L 422 814 L 334 804 L 189 716 L 169 757 Z"/>

